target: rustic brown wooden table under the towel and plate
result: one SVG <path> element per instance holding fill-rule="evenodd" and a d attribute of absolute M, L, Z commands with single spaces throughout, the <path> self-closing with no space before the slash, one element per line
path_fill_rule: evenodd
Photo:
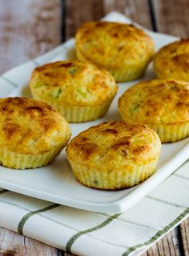
<path fill-rule="evenodd" d="M 74 36 L 84 22 L 112 10 L 143 27 L 189 37 L 189 0 L 0 0 L 0 73 Z M 68 255 L 0 228 L 0 255 Z M 189 255 L 189 219 L 143 256 Z"/>

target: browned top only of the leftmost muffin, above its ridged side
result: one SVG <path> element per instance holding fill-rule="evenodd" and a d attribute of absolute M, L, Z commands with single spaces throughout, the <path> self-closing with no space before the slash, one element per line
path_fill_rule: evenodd
<path fill-rule="evenodd" d="M 50 105 L 25 97 L 0 99 L 0 147 L 38 155 L 69 137 L 65 119 Z"/>

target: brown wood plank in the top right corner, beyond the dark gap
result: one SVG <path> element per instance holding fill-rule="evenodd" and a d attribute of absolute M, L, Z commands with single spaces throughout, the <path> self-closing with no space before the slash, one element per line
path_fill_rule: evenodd
<path fill-rule="evenodd" d="M 158 31 L 179 37 L 189 37 L 189 1 L 151 0 Z"/>

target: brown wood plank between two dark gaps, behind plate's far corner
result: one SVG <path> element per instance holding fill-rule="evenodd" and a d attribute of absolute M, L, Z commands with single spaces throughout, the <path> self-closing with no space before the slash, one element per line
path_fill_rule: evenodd
<path fill-rule="evenodd" d="M 151 28 L 147 0 L 78 0 L 66 1 L 66 39 L 73 37 L 82 23 L 103 18 L 115 10 L 126 14 L 143 27 Z"/>

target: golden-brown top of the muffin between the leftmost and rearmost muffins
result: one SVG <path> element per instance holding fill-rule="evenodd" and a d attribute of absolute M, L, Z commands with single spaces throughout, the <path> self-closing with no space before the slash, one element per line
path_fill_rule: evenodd
<path fill-rule="evenodd" d="M 109 72 L 78 60 L 35 68 L 30 88 L 36 99 L 58 105 L 99 105 L 117 92 L 115 79 Z"/>

